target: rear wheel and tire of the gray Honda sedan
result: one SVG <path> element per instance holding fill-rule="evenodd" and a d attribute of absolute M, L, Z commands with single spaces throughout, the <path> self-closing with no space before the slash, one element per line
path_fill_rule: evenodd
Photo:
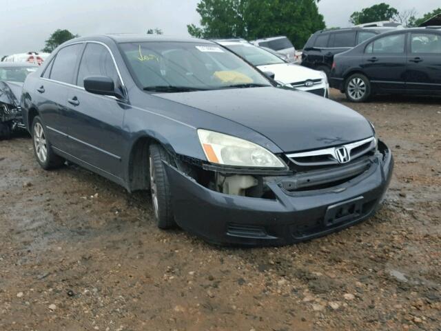
<path fill-rule="evenodd" d="M 39 116 L 32 122 L 32 145 L 34 146 L 34 155 L 39 165 L 44 170 L 59 168 L 64 160 L 54 153 L 50 141 L 45 132 L 45 127 L 41 123 Z"/>

